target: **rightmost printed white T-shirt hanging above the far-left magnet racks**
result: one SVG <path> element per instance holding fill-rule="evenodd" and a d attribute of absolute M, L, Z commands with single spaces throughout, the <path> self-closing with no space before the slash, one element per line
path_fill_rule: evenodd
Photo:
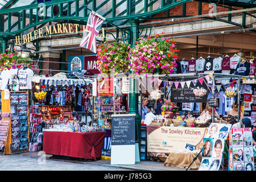
<path fill-rule="evenodd" d="M 18 72 L 19 89 L 32 89 L 32 76 L 34 72 L 30 69 L 20 69 Z"/>

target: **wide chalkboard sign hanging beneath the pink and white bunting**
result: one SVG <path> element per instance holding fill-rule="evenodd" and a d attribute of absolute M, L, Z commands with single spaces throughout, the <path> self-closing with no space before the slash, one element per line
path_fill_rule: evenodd
<path fill-rule="evenodd" d="M 181 81 L 185 81 L 185 80 L 181 80 Z M 195 96 L 195 94 L 193 93 L 193 89 L 197 88 L 197 86 L 199 88 L 206 89 L 207 94 L 205 94 L 205 96 L 203 96 L 203 97 Z M 187 86 L 187 84 L 185 84 L 184 88 L 181 88 L 180 84 L 177 88 L 175 87 L 175 84 L 172 84 L 171 102 L 176 102 L 176 103 L 179 103 L 179 102 L 202 102 L 202 103 L 206 103 L 207 97 L 208 97 L 208 89 L 207 89 L 207 85 L 205 84 L 205 82 L 203 82 L 203 85 L 201 85 L 200 82 L 198 81 L 196 86 L 191 82 L 189 87 Z"/>

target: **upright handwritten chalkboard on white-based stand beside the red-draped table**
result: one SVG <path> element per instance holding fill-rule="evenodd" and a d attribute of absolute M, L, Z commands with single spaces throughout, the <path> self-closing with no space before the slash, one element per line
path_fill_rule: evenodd
<path fill-rule="evenodd" d="M 135 144 L 135 114 L 112 115 L 112 145 Z"/>

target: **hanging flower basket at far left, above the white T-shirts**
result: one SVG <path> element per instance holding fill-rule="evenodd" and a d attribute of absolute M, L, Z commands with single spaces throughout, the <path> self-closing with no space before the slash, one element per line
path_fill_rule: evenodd
<path fill-rule="evenodd" d="M 13 68 L 14 65 L 16 65 L 16 67 L 19 68 L 22 64 L 27 64 L 28 68 L 34 68 L 34 66 L 32 65 L 33 61 L 30 59 L 29 56 L 22 57 L 22 55 L 20 55 L 18 51 L 15 50 L 15 48 L 13 50 L 6 49 L 5 51 L 6 53 L 0 54 L 0 64 L 2 66 Z M 5 68 L 2 67 L 1 69 L 3 70 Z"/>

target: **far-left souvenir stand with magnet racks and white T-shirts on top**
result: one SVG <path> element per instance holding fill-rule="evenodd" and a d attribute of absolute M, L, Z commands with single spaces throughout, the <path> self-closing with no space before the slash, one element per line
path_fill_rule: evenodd
<path fill-rule="evenodd" d="M 1 133 L 0 145 L 5 146 L 3 154 L 28 151 L 28 104 L 32 89 L 31 79 L 34 75 L 32 69 L 28 68 L 30 65 L 31 63 L 16 65 L 14 60 L 13 64 L 2 67 L 1 126 L 4 127 L 1 127 L 3 133 Z"/>

